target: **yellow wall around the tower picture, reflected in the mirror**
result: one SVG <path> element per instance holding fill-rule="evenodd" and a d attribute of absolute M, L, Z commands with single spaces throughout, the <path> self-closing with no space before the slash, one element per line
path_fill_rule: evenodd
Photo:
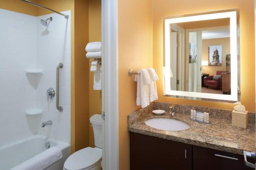
<path fill-rule="evenodd" d="M 202 60 L 208 61 L 208 46 L 222 46 L 222 65 L 221 66 L 202 66 L 203 71 L 210 76 L 216 75 L 216 71 L 228 71 L 230 66 L 226 66 L 226 55 L 230 54 L 230 38 L 215 38 L 202 40 Z"/>

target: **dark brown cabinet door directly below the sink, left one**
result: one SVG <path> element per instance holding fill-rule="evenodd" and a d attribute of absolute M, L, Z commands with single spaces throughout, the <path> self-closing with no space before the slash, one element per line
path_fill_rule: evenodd
<path fill-rule="evenodd" d="M 131 170 L 190 170 L 192 146 L 167 139 L 130 133 Z"/>

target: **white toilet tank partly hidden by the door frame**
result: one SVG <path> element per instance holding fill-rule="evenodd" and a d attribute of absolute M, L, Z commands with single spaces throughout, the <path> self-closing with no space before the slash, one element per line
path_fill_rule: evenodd
<path fill-rule="evenodd" d="M 102 118 L 100 114 L 94 114 L 90 118 L 93 126 L 94 143 L 98 148 L 102 148 Z"/>

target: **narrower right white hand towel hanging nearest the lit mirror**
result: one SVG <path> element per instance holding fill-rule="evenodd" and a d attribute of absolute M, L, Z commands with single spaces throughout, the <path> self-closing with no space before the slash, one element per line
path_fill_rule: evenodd
<path fill-rule="evenodd" d="M 151 83 L 149 84 L 149 96 L 150 96 L 150 102 L 153 102 L 155 100 L 158 100 L 158 95 L 157 95 L 157 84 L 156 81 L 159 80 L 156 70 L 154 68 L 147 68 L 149 75 L 150 75 L 150 80 Z"/>

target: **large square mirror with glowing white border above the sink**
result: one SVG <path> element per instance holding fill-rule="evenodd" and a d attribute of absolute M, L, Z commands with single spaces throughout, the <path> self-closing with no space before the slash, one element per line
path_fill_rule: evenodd
<path fill-rule="evenodd" d="M 239 100 L 237 11 L 164 19 L 164 94 Z"/>

